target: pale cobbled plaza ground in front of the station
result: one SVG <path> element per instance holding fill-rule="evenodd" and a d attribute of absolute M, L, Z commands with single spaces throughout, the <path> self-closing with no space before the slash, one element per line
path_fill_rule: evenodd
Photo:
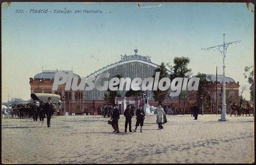
<path fill-rule="evenodd" d="M 253 163 L 254 117 L 168 116 L 158 130 L 146 116 L 143 132 L 113 133 L 109 118 L 56 116 L 46 120 L 2 119 L 2 163 Z M 132 129 L 135 128 L 135 117 Z"/>

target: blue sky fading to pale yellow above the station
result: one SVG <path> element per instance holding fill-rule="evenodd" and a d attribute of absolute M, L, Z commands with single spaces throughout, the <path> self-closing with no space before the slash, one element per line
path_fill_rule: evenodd
<path fill-rule="evenodd" d="M 155 7 L 158 6 L 159 7 Z M 151 56 L 173 64 L 187 56 L 193 74 L 222 74 L 218 51 L 226 42 L 226 76 L 250 98 L 244 67 L 254 65 L 254 13 L 245 3 L 2 3 L 2 102 L 30 99 L 29 78 L 43 69 L 73 70 L 81 77 L 121 60 L 121 54 Z M 151 7 L 150 7 L 151 6 Z M 48 9 L 31 13 L 31 9 Z M 254 5 L 250 5 L 254 11 Z M 18 13 L 22 12 L 23 13 Z M 69 10 L 71 13 L 54 13 Z M 95 10 L 102 13 L 75 13 Z M 52 11 L 52 12 L 50 12 Z M 17 12 L 17 13 L 15 13 Z M 241 87 L 240 87 L 241 90 Z"/>

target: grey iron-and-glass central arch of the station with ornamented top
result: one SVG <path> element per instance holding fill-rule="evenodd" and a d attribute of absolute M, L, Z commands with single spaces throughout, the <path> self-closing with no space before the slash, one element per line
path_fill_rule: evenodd
<path fill-rule="evenodd" d="M 142 78 L 145 79 L 147 77 L 152 77 L 155 74 L 155 69 L 160 66 L 156 63 L 152 63 L 150 60 L 150 56 L 141 56 L 136 54 L 137 49 L 135 49 L 134 55 L 124 56 L 121 55 L 121 60 L 116 63 L 111 63 L 106 67 L 91 73 L 86 78 L 98 76 L 101 73 L 110 73 L 109 79 L 113 78 L 116 75 L 121 75 L 123 78 Z M 173 74 L 171 71 L 167 70 L 168 74 Z M 104 81 L 109 80 L 108 78 L 102 78 L 101 85 L 103 85 Z M 127 91 L 122 90 L 121 96 L 124 97 Z M 145 91 L 149 100 L 154 100 L 152 91 Z M 98 91 L 97 89 L 93 89 L 91 91 L 85 91 L 85 100 L 103 100 L 104 94 L 107 91 Z"/>

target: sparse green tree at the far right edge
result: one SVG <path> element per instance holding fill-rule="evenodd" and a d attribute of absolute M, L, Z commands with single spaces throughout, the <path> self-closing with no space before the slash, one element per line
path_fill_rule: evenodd
<path fill-rule="evenodd" d="M 245 73 L 243 74 L 245 78 L 248 78 L 248 83 L 250 84 L 250 101 L 254 102 L 254 79 L 253 79 L 253 66 L 245 67 Z"/>

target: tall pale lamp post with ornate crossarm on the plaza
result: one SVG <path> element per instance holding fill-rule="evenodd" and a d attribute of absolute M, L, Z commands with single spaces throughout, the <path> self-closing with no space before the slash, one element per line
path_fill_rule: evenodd
<path fill-rule="evenodd" d="M 221 55 L 222 55 L 222 59 L 223 59 L 223 81 L 222 81 L 222 114 L 221 114 L 221 119 L 219 119 L 219 121 L 228 121 L 228 119 L 226 118 L 226 81 L 225 81 L 225 57 L 226 57 L 226 50 L 228 49 L 228 46 L 230 44 L 236 44 L 237 42 L 239 43 L 241 40 L 239 41 L 234 41 L 234 42 L 229 42 L 229 43 L 225 43 L 225 35 L 226 34 L 223 34 L 223 44 L 221 45 L 217 45 L 217 46 L 213 46 L 213 47 L 208 47 L 208 48 L 205 48 L 205 49 L 202 49 L 202 50 L 211 50 L 213 49 L 217 49 L 218 51 L 221 52 Z M 217 80 L 216 80 L 217 82 Z"/>

